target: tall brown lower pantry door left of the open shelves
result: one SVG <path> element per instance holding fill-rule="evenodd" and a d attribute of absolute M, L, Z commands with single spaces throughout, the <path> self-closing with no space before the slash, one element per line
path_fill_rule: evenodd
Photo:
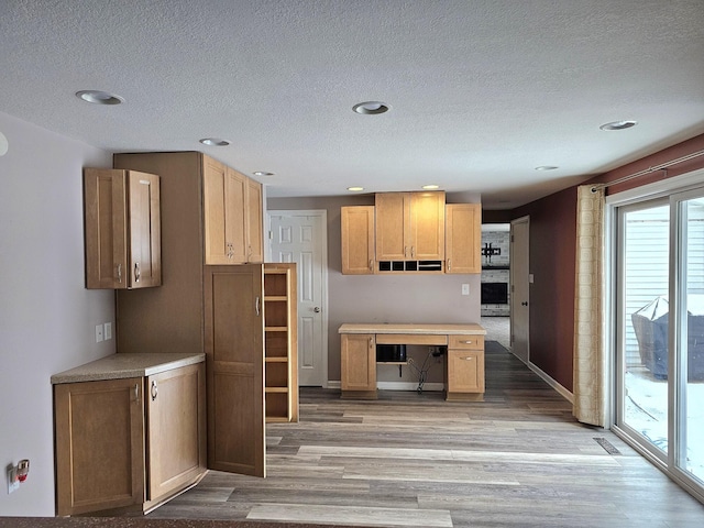
<path fill-rule="evenodd" d="M 264 476 L 263 265 L 206 266 L 208 468 Z"/>

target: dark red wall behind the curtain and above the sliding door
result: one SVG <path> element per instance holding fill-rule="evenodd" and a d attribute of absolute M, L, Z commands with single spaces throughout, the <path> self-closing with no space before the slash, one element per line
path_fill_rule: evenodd
<path fill-rule="evenodd" d="M 588 183 L 607 183 L 704 150 L 704 134 L 600 175 Z M 666 177 L 704 168 L 704 156 L 612 186 L 607 194 L 640 187 Z M 576 186 L 512 211 L 530 216 L 530 361 L 572 391 L 574 345 L 574 266 Z"/>

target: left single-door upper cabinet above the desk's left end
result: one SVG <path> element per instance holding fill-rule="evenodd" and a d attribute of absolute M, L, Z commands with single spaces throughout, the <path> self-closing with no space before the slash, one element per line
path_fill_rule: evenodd
<path fill-rule="evenodd" d="M 342 207 L 342 273 L 374 273 L 374 206 Z"/>

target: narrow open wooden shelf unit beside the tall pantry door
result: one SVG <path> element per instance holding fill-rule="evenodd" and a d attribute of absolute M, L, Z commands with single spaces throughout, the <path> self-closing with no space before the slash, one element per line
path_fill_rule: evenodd
<path fill-rule="evenodd" d="M 295 263 L 264 264 L 266 421 L 298 421 L 297 283 Z"/>

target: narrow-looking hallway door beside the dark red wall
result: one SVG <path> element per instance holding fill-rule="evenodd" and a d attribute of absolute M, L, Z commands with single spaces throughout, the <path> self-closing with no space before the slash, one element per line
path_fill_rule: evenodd
<path fill-rule="evenodd" d="M 510 341 L 512 352 L 524 363 L 529 361 L 529 232 L 530 219 L 510 223 Z"/>

